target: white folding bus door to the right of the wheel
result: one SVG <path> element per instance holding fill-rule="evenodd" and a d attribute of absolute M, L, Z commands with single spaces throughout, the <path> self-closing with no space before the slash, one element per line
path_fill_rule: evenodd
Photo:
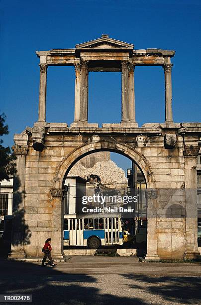
<path fill-rule="evenodd" d="M 118 218 L 105 218 L 105 245 L 119 245 Z"/>

